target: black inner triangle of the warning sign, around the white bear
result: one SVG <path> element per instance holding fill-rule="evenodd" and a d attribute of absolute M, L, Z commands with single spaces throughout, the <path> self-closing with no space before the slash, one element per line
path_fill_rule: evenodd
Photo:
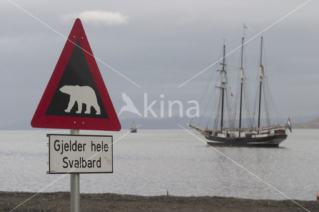
<path fill-rule="evenodd" d="M 79 40 L 76 45 L 81 46 Z M 55 90 L 53 98 L 48 106 L 46 115 L 72 116 L 72 117 L 90 117 L 90 118 L 109 118 L 105 106 L 102 102 L 100 93 L 97 89 L 89 65 L 85 59 L 83 50 L 78 46 L 74 46 L 68 64 L 65 67 L 58 87 Z M 78 110 L 78 102 L 74 104 L 70 112 L 64 110 L 68 107 L 70 95 L 62 93 L 59 89 L 63 86 L 89 86 L 91 87 L 97 98 L 98 105 L 101 109 L 101 114 L 97 115 L 94 107 L 91 107 L 91 113 L 86 114 L 86 104 L 82 104 L 82 112 L 76 113 Z"/>

